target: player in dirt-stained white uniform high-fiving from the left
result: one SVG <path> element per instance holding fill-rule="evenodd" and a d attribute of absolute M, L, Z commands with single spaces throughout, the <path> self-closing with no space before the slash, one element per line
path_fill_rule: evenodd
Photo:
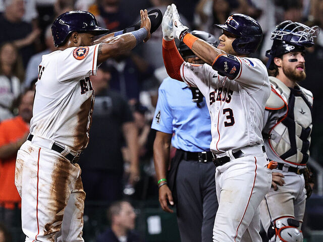
<path fill-rule="evenodd" d="M 139 30 L 95 41 L 95 35 L 108 30 L 98 27 L 88 12 L 67 12 L 53 23 L 58 50 L 42 57 L 30 134 L 16 162 L 26 241 L 84 241 L 85 193 L 75 162 L 89 140 L 94 101 L 89 76 L 105 59 L 149 39 L 147 11 L 140 15 Z"/>

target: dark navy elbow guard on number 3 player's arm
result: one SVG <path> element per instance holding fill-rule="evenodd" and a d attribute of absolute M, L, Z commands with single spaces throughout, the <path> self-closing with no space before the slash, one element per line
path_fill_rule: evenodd
<path fill-rule="evenodd" d="M 240 72 L 241 64 L 234 55 L 220 54 L 214 59 L 212 68 L 218 71 L 221 76 L 235 79 Z"/>

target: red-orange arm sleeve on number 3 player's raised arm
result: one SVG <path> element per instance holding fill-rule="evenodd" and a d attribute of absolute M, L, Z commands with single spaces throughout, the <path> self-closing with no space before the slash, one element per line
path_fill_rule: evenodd
<path fill-rule="evenodd" d="M 178 81 L 183 82 L 180 69 L 184 63 L 184 59 L 178 52 L 175 41 L 166 41 L 163 39 L 163 58 L 167 74 Z"/>

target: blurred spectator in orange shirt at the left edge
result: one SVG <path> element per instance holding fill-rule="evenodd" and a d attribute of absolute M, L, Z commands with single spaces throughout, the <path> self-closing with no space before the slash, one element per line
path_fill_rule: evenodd
<path fill-rule="evenodd" d="M 21 207 L 21 198 L 15 187 L 15 164 L 20 146 L 26 141 L 32 117 L 34 92 L 21 96 L 18 116 L 0 124 L 0 221 L 13 225 L 15 208 Z"/>

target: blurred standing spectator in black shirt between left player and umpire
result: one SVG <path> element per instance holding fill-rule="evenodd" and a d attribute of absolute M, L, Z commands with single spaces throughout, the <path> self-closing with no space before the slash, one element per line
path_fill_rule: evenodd
<path fill-rule="evenodd" d="M 111 203 L 122 197 L 124 161 L 123 139 L 131 157 L 130 183 L 139 178 L 137 129 L 132 112 L 119 93 L 109 89 L 111 74 L 104 64 L 91 77 L 96 93 L 91 141 L 80 157 L 82 180 L 87 200 Z"/>

